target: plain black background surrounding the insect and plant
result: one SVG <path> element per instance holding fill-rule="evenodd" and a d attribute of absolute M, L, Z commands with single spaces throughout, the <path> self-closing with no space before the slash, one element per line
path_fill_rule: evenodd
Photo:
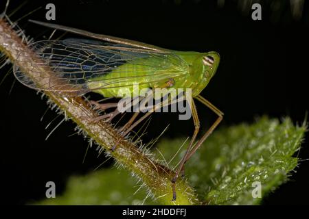
<path fill-rule="evenodd" d="M 8 14 L 20 2 L 11 1 Z M 225 112 L 221 127 L 253 123 L 265 114 L 290 116 L 302 123 L 309 110 L 308 2 L 296 19 L 289 1 L 262 1 L 262 21 L 251 19 L 251 7 L 241 9 L 244 2 L 227 1 L 220 7 L 217 1 L 27 1 L 11 19 L 16 21 L 42 6 L 19 25 L 34 40 L 48 38 L 51 29 L 27 19 L 45 21 L 45 5 L 54 3 L 54 23 L 179 51 L 218 51 L 218 72 L 202 94 Z M 1 79 L 8 70 L 8 66 L 1 69 Z M 1 84 L 0 94 L 1 201 L 19 205 L 38 201 L 45 197 L 47 181 L 56 183 L 59 194 L 65 190 L 67 177 L 86 174 L 104 161 L 92 148 L 82 164 L 87 142 L 82 136 L 67 137 L 75 133 L 71 122 L 62 123 L 45 141 L 62 117 L 45 130 L 56 113 L 48 110 L 40 122 L 46 101 L 34 90 L 14 83 L 12 74 Z M 201 105 L 198 112 L 202 124 L 216 118 Z M 155 114 L 144 142 L 157 137 L 169 123 L 164 138 L 192 135 L 192 120 L 177 118 L 177 114 Z M 299 154 L 302 159 L 309 158 L 308 137 Z M 291 180 L 264 204 L 309 204 L 308 170 L 309 161 L 301 162 Z"/>

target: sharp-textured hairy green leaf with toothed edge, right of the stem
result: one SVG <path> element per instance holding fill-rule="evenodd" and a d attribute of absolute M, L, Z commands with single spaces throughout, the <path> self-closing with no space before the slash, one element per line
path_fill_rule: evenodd
<path fill-rule="evenodd" d="M 297 166 L 297 158 L 292 156 L 305 131 L 306 127 L 295 127 L 289 118 L 280 124 L 266 117 L 253 125 L 220 129 L 187 162 L 185 174 L 206 204 L 257 205 Z M 171 158 L 176 150 L 171 146 L 184 141 L 163 140 L 159 149 Z M 258 194 L 254 182 L 260 183 L 262 198 L 253 198 L 252 192 L 255 197 Z"/>

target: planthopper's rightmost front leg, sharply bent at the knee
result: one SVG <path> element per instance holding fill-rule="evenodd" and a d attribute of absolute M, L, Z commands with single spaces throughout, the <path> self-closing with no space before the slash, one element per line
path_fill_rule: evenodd
<path fill-rule="evenodd" d="M 188 159 L 190 159 L 190 157 L 192 157 L 192 155 L 194 155 L 194 153 L 199 149 L 199 147 L 203 144 L 203 142 L 205 142 L 205 140 L 208 138 L 208 136 L 212 133 L 212 131 L 214 131 L 214 129 L 216 129 L 216 127 L 219 125 L 219 123 L 221 122 L 222 118 L 223 118 L 223 112 L 221 112 L 220 110 L 218 110 L 217 107 L 215 107 L 214 105 L 212 105 L 209 101 L 207 101 L 203 96 L 198 95 L 196 96 L 196 99 L 198 101 L 200 101 L 201 103 L 203 103 L 204 105 L 206 105 L 207 107 L 209 107 L 210 110 L 212 110 L 214 113 L 216 113 L 218 115 L 217 120 L 214 122 L 213 125 L 211 125 L 211 127 L 207 130 L 207 132 L 204 134 L 204 136 L 196 143 L 196 145 L 191 149 L 190 153 L 187 154 L 187 156 L 185 157 L 185 162 L 187 162 Z"/>

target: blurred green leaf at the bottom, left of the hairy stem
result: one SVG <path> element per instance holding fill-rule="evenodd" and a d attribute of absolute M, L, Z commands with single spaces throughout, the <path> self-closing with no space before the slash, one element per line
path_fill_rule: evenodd
<path fill-rule="evenodd" d="M 155 203 L 151 198 L 146 198 L 145 187 L 138 190 L 140 185 L 141 183 L 130 177 L 127 170 L 116 168 L 97 170 L 88 175 L 70 177 L 64 194 L 34 204 L 158 205 L 159 203 Z"/>

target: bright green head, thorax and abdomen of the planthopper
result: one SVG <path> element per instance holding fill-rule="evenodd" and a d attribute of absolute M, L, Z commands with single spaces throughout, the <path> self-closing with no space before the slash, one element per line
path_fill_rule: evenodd
<path fill-rule="evenodd" d="M 173 82 L 167 87 L 167 89 L 191 88 L 192 96 L 198 95 L 207 86 L 211 77 L 213 77 L 216 73 L 216 69 L 218 68 L 218 64 L 220 62 L 220 56 L 216 52 L 196 53 L 172 51 L 172 53 L 174 55 L 178 55 L 181 60 L 183 60 L 183 63 L 185 63 L 185 66 L 178 67 L 179 71 L 182 71 L 180 75 L 185 76 L 179 77 L 179 79 L 177 79 L 177 77 L 172 79 Z M 203 58 L 207 56 L 212 57 L 214 60 L 214 64 L 212 66 L 207 66 L 205 62 L 203 62 Z M 170 59 L 166 57 L 165 62 L 166 60 Z M 139 94 L 139 90 L 143 88 L 165 88 L 168 79 L 163 79 L 161 81 L 150 80 L 151 75 L 156 73 L 157 69 L 161 70 L 160 68 L 157 68 L 154 63 L 157 64 L 157 66 L 165 64 L 162 63 L 161 60 L 159 61 L 153 57 L 148 57 L 146 59 L 141 58 L 140 60 L 122 64 L 121 66 L 118 66 L 117 69 L 111 71 L 110 74 L 97 77 L 94 81 L 89 82 L 88 87 L 89 89 L 94 90 L 105 97 L 124 96 L 124 94 L 128 93 L 134 97 L 134 94 L 136 92 Z M 140 63 L 144 63 L 144 65 L 140 65 Z M 147 63 L 151 63 L 151 65 L 147 65 Z M 167 65 L 170 66 L 170 68 L 165 69 L 165 73 L 170 72 L 172 77 L 172 72 L 174 72 L 176 67 L 170 63 Z M 119 73 L 119 70 L 121 73 Z M 144 73 L 145 77 L 139 77 L 141 73 Z M 113 88 L 100 89 L 100 87 L 104 87 L 104 82 L 102 81 L 111 81 L 122 77 L 130 77 L 130 80 L 115 82 L 113 83 Z M 138 84 L 139 90 L 134 90 L 132 84 Z"/>

